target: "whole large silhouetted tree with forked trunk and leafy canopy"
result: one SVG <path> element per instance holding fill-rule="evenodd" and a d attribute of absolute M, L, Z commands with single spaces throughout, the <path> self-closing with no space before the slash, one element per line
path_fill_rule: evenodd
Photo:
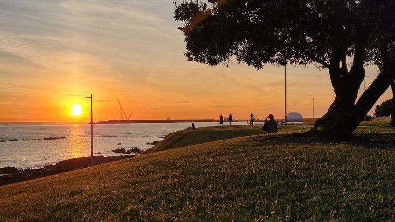
<path fill-rule="evenodd" d="M 315 64 L 328 69 L 335 99 L 310 133 L 351 134 L 395 79 L 393 0 L 184 0 L 174 2 L 184 23 L 189 61 L 210 66 L 231 59 L 264 64 Z M 347 59 L 352 61 L 347 63 Z M 364 66 L 380 74 L 356 101 Z"/>

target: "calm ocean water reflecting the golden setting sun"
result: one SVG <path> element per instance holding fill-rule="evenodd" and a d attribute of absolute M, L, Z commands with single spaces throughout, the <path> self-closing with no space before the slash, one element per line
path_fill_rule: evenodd
<path fill-rule="evenodd" d="M 93 152 L 94 155 L 117 156 L 123 154 L 114 153 L 112 149 L 137 147 L 146 150 L 153 147 L 146 143 L 163 140 L 163 136 L 191 125 L 192 123 L 94 124 Z M 199 122 L 195 125 L 203 127 L 219 124 Z M 44 140 L 48 137 L 65 139 Z M 61 160 L 90 156 L 89 124 L 0 123 L 0 141 L 2 140 L 6 142 L 0 142 L 0 168 L 41 168 Z"/>

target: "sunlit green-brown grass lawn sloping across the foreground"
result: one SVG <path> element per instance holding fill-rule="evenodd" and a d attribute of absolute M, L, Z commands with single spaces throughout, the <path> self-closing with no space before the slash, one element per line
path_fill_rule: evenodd
<path fill-rule="evenodd" d="M 170 149 L 1 186 L 0 221 L 395 219 L 394 147 L 287 135 L 303 130 L 308 128 L 280 128 L 278 134 Z M 356 135 L 369 132 L 373 139 L 394 139 L 385 123 L 359 128 Z"/>

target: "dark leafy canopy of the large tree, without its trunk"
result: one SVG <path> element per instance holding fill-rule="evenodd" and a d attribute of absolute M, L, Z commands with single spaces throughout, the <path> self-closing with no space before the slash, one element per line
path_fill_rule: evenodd
<path fill-rule="evenodd" d="M 372 46 L 366 62 L 377 59 L 377 36 L 394 43 L 392 0 L 183 1 L 175 19 L 185 23 L 187 58 L 211 66 L 235 56 L 257 69 L 285 61 L 329 68 L 331 55 L 355 55 L 356 43 Z"/>

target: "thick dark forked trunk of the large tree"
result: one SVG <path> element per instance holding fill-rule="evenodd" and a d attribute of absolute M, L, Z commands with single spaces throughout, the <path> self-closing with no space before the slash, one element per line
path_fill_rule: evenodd
<path fill-rule="evenodd" d="M 381 72 L 355 104 L 361 81 L 343 79 L 329 111 L 318 119 L 308 134 L 328 137 L 347 137 L 366 116 L 380 96 L 394 82 L 394 74 Z"/>

